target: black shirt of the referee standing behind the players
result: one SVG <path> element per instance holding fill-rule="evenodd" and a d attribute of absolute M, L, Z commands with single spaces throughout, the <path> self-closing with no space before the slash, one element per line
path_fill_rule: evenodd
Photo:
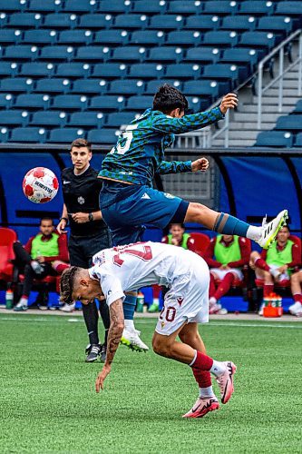
<path fill-rule="evenodd" d="M 89 166 L 81 175 L 75 175 L 73 167 L 63 169 L 62 174 L 63 201 L 68 212 L 71 233 L 74 236 L 95 236 L 107 229 L 105 222 L 91 221 L 77 223 L 73 221 L 75 212 L 99 212 L 99 196 L 102 189 L 102 180 L 98 172 Z"/>

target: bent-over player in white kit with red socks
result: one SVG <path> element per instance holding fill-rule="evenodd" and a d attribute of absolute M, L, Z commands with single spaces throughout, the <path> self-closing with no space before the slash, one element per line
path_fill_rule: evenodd
<path fill-rule="evenodd" d="M 211 385 L 212 373 L 218 382 L 221 402 L 227 403 L 236 366 L 206 355 L 198 323 L 209 321 L 209 268 L 194 252 L 169 244 L 137 242 L 105 249 L 93 257 L 93 267 L 71 267 L 63 272 L 61 300 L 88 304 L 93 298 L 106 300 L 111 317 L 106 361 L 95 388 L 99 392 L 111 371 L 112 360 L 123 330 L 122 301 L 125 291 L 160 284 L 169 287 L 164 307 L 153 334 L 155 353 L 188 364 L 199 384 L 200 396 L 185 418 L 201 418 L 219 409 Z M 177 336 L 180 341 L 176 341 Z"/>

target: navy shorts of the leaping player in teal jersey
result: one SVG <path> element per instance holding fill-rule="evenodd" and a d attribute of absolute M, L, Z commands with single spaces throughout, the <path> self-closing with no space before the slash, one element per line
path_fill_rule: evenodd
<path fill-rule="evenodd" d="M 163 229 L 183 222 L 189 202 L 145 185 L 103 181 L 100 208 L 112 232 L 113 245 L 141 240 L 145 226 Z"/>

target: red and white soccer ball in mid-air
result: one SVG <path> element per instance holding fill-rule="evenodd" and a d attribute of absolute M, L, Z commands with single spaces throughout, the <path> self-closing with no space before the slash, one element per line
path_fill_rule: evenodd
<path fill-rule="evenodd" d="M 34 167 L 24 176 L 23 192 L 31 202 L 50 202 L 54 199 L 58 189 L 57 177 L 54 172 L 45 167 Z"/>

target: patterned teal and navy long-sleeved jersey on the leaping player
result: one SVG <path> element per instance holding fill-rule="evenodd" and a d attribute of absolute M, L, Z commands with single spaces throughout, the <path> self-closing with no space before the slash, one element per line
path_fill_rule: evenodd
<path fill-rule="evenodd" d="M 191 161 L 164 161 L 165 148 L 174 142 L 174 134 L 189 133 L 221 118 L 219 107 L 182 118 L 147 109 L 121 133 L 102 161 L 99 177 L 151 186 L 155 173 L 191 172 Z"/>

